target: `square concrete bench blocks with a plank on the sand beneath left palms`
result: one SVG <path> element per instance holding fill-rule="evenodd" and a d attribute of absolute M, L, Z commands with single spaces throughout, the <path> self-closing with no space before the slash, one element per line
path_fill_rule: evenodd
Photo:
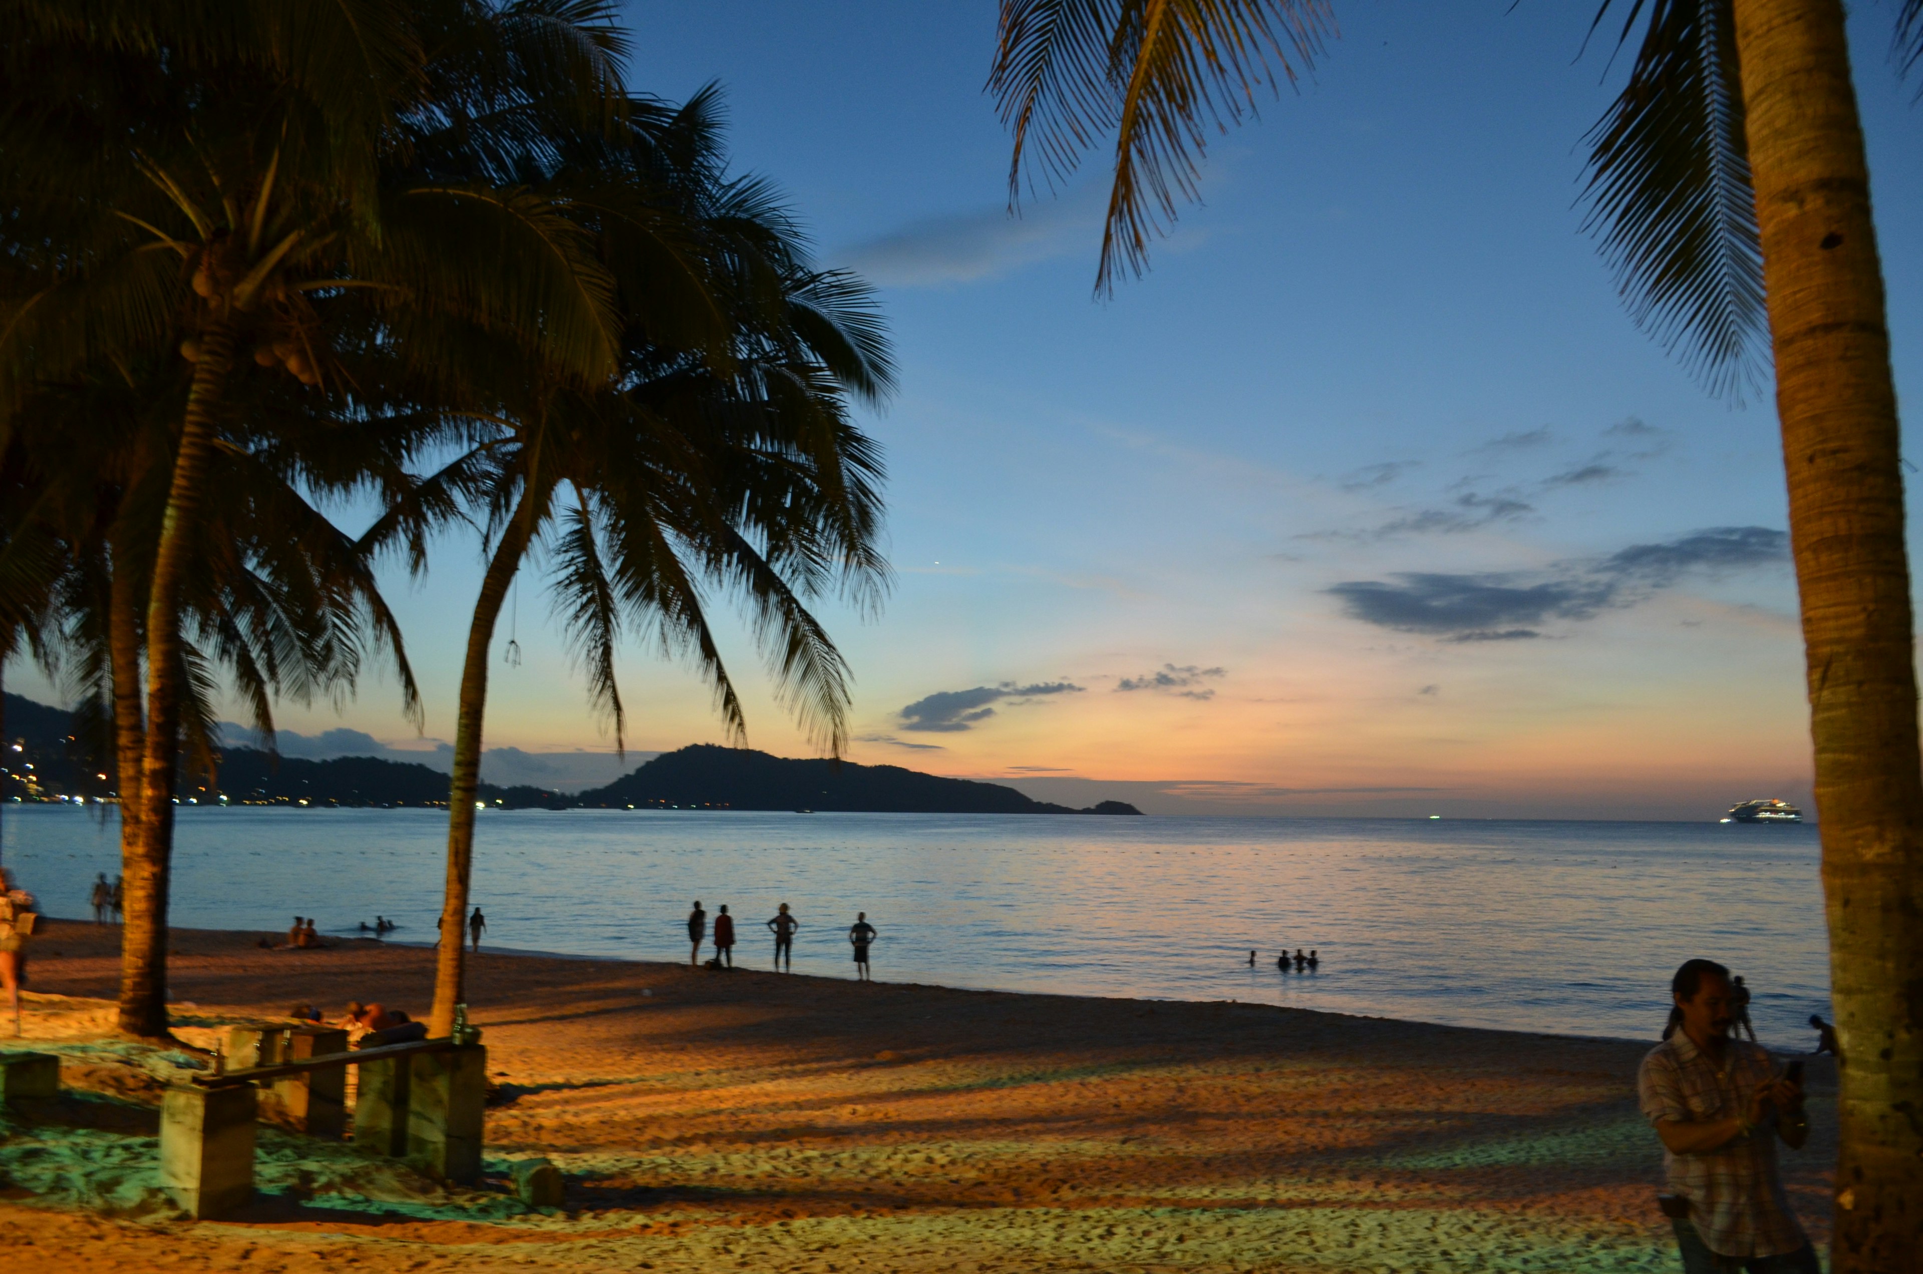
<path fill-rule="evenodd" d="M 265 1043 L 269 1033 L 281 1039 Z M 329 1035 L 340 1032 L 273 1028 L 256 1035 L 238 1039 L 240 1057 L 252 1047 L 254 1060 L 262 1058 L 262 1049 L 273 1051 L 275 1060 L 194 1076 L 171 1085 L 162 1103 L 162 1185 L 194 1218 L 221 1216 L 252 1199 L 254 1122 L 262 1110 L 271 1107 L 281 1122 L 300 1118 L 327 1126 L 333 1118 L 327 1095 L 344 1089 L 346 1066 L 362 1068 L 356 1145 L 406 1159 L 446 1182 L 481 1180 L 483 1045 L 423 1039 L 337 1051 Z M 260 1085 L 271 1087 L 263 1095 Z"/>

